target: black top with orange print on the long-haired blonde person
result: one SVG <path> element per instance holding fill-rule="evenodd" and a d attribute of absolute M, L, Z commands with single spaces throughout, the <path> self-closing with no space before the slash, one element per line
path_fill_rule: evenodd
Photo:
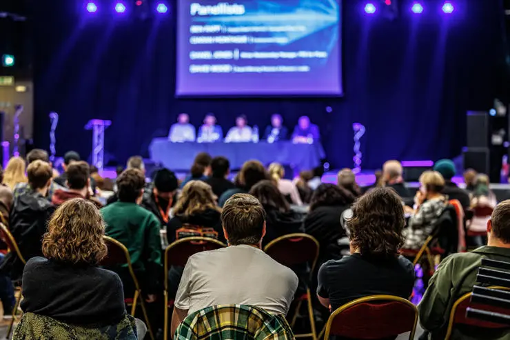
<path fill-rule="evenodd" d="M 206 209 L 205 211 L 192 215 L 178 215 L 172 217 L 167 224 L 167 240 L 172 243 L 176 239 L 176 230 L 182 228 L 183 224 L 191 224 L 193 226 L 201 226 L 205 228 L 213 228 L 218 232 L 218 240 L 226 243 L 223 235 L 223 227 L 221 226 L 221 212 L 214 209 Z"/>

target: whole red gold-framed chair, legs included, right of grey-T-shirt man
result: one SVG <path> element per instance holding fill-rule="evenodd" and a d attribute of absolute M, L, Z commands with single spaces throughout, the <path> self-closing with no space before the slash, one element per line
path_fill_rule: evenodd
<path fill-rule="evenodd" d="M 299 264 L 309 264 L 310 280 L 312 280 L 312 273 L 314 272 L 319 254 L 319 243 L 314 237 L 303 233 L 287 234 L 267 243 L 264 251 L 272 257 L 272 259 L 289 268 Z M 294 334 L 294 337 L 312 337 L 312 339 L 316 340 L 317 333 L 315 329 L 314 308 L 312 305 L 312 293 L 310 292 L 310 288 L 307 286 L 305 294 L 300 297 L 296 297 L 295 301 L 297 301 L 297 305 L 294 317 L 292 317 L 291 326 L 294 327 L 296 324 L 301 304 L 305 301 L 308 308 L 311 332 L 305 334 Z"/>

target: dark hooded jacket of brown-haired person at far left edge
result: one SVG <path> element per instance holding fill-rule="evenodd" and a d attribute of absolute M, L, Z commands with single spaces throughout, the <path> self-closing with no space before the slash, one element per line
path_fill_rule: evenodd
<path fill-rule="evenodd" d="M 43 234 L 46 232 L 46 223 L 54 210 L 54 206 L 48 202 L 48 199 L 32 190 L 14 199 L 9 217 L 9 229 L 25 261 L 42 256 Z M 0 270 L 11 279 L 19 280 L 23 274 L 23 267 L 17 254 L 9 252 Z"/>

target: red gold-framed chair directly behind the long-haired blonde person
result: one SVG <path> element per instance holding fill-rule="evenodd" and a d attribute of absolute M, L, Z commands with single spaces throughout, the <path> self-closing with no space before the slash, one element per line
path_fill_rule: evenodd
<path fill-rule="evenodd" d="M 171 266 L 184 267 L 187 259 L 205 250 L 225 248 L 225 244 L 210 237 L 185 237 L 172 242 L 165 249 L 165 326 L 164 338 L 168 339 L 168 309 L 173 306 L 174 301 L 168 299 L 168 270 Z"/>

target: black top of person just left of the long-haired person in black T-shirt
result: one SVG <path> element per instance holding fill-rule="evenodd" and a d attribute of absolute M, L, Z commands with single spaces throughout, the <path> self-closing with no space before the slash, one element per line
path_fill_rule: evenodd
<path fill-rule="evenodd" d="M 320 245 L 319 261 L 340 258 L 338 239 L 345 237 L 345 230 L 340 226 L 340 215 L 349 206 L 320 206 L 309 212 L 305 222 L 305 232 L 315 237 Z"/>

